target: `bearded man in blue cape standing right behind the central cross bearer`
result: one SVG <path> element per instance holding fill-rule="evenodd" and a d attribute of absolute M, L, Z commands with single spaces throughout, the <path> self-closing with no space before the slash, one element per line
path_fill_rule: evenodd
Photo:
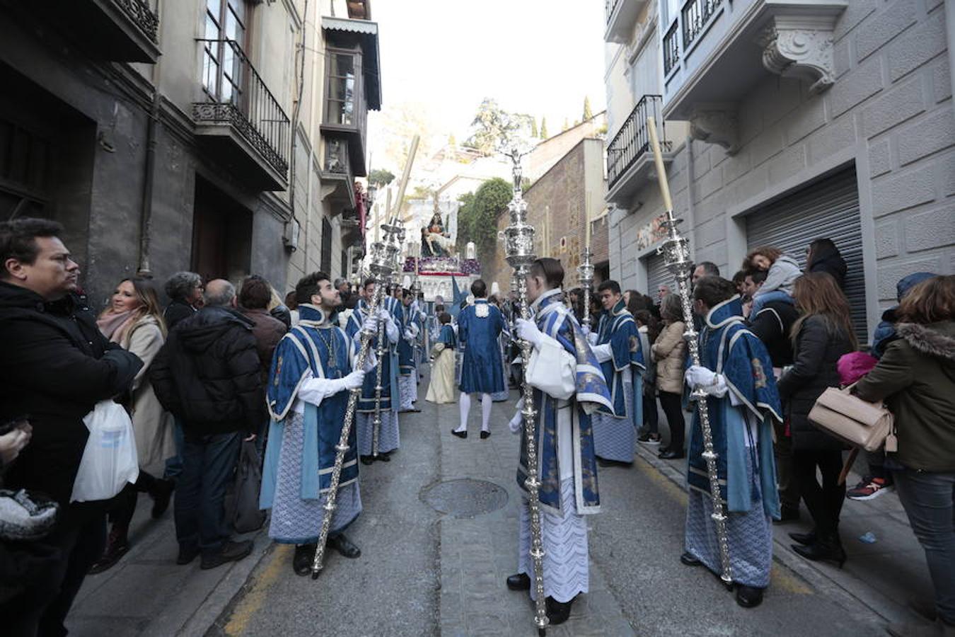
<path fill-rule="evenodd" d="M 644 352 L 633 315 L 626 309 L 624 295 L 616 281 L 597 288 L 604 313 L 601 315 L 594 355 L 600 361 L 610 388 L 610 407 L 593 415 L 594 452 L 597 461 L 631 464 L 637 430 L 644 424 Z"/>

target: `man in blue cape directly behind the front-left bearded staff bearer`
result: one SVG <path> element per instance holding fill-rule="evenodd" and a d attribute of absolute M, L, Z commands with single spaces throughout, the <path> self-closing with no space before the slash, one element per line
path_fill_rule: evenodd
<path fill-rule="evenodd" d="M 367 279 L 360 290 L 362 298 L 355 304 L 351 312 L 345 333 L 355 341 L 360 340 L 361 329 L 368 320 L 371 311 L 371 297 L 374 296 L 374 279 Z M 400 337 L 398 326 L 401 323 L 401 302 L 392 295 L 387 295 L 382 301 L 383 308 L 378 308 L 378 319 L 384 324 L 385 349 L 381 360 L 381 429 L 378 433 L 378 459 L 389 462 L 391 454 L 398 448 L 398 352 L 397 343 Z M 381 332 L 376 332 L 380 334 Z M 371 351 L 377 351 L 378 336 L 371 339 Z M 374 413 L 376 406 L 375 384 L 378 382 L 378 370 L 371 370 L 365 376 L 361 397 L 355 409 L 355 428 L 358 430 L 358 455 L 362 464 L 371 464 L 374 456 L 372 447 L 374 432 Z"/>

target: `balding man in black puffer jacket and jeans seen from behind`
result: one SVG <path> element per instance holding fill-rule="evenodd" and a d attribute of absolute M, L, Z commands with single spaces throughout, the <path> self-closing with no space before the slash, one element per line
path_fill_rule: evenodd
<path fill-rule="evenodd" d="M 223 498 L 242 438 L 265 421 L 265 392 L 252 322 L 236 311 L 236 290 L 217 279 L 205 306 L 169 333 L 150 379 L 162 406 L 183 423 L 176 486 L 176 563 L 202 554 L 202 568 L 241 560 L 251 541 L 230 541 Z"/>

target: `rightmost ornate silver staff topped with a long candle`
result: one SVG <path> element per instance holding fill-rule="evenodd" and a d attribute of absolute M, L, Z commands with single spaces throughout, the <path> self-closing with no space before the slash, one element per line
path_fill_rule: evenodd
<path fill-rule="evenodd" d="M 660 194 L 663 196 L 664 207 L 667 208 L 667 221 L 663 223 L 668 231 L 668 239 L 658 248 L 663 254 L 667 269 L 676 277 L 676 287 L 683 304 L 683 314 L 686 318 L 687 330 L 683 337 L 690 349 L 690 358 L 693 365 L 700 364 L 700 348 L 696 340 L 696 329 L 693 328 L 693 302 L 690 292 L 690 241 L 680 235 L 676 226 L 682 220 L 673 216 L 673 202 L 669 197 L 669 182 L 667 170 L 663 165 L 663 156 L 660 154 L 660 140 L 656 134 L 656 122 L 653 117 L 647 117 L 647 132 L 650 138 L 650 147 L 653 149 L 653 159 L 656 162 L 657 179 L 660 181 Z M 707 461 L 707 474 L 710 478 L 710 496 L 713 512 L 711 518 L 716 523 L 716 540 L 719 543 L 719 559 L 723 572 L 720 579 L 728 588 L 732 588 L 732 565 L 730 564 L 730 541 L 726 535 L 727 516 L 723 510 L 723 499 L 720 494 L 719 474 L 716 471 L 716 452 L 713 451 L 713 438 L 710 429 L 710 410 L 707 407 L 707 393 L 697 388 L 690 394 L 696 398 L 696 410 L 700 415 L 700 429 L 703 431 L 703 458 Z"/>

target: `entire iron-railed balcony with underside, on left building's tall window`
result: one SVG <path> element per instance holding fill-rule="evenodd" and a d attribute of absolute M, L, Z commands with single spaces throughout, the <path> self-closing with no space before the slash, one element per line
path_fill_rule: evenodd
<path fill-rule="evenodd" d="M 285 190 L 289 123 L 242 48 L 233 40 L 200 40 L 202 93 L 192 105 L 196 137 L 248 185 Z"/>

